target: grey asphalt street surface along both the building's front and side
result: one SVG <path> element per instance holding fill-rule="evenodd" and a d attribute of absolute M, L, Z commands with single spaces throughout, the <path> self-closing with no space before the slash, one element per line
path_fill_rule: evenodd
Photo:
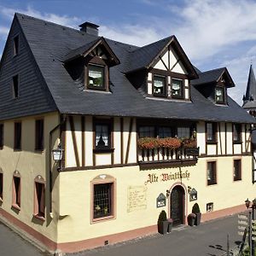
<path fill-rule="evenodd" d="M 69 256 L 220 256 L 226 255 L 227 236 L 230 248 L 237 247 L 237 215 L 202 223 L 200 226 L 179 226 L 166 236 L 156 234 L 132 241 L 100 247 Z M 0 255 L 46 256 L 14 231 L 0 223 Z M 231 256 L 232 254 L 230 254 Z"/>

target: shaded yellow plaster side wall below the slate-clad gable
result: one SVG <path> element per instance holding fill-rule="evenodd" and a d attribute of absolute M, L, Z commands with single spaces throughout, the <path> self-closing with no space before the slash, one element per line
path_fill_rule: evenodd
<path fill-rule="evenodd" d="M 35 151 L 35 119 L 44 118 L 44 151 Z M 14 122 L 21 121 L 21 151 L 14 151 Z M 49 216 L 49 131 L 59 123 L 58 113 L 27 117 L 4 122 L 4 147 L 0 150 L 0 167 L 3 170 L 3 203 L 1 208 L 15 218 L 38 230 L 51 240 L 57 240 L 56 219 Z M 56 136 L 53 135 L 53 142 Z M 20 211 L 12 209 L 12 183 L 15 171 L 20 172 Z M 40 175 L 45 181 L 46 221 L 33 218 L 34 179 Z M 58 180 L 54 180 L 57 184 Z M 58 201 L 57 186 L 53 201 Z M 55 206 L 56 207 L 56 206 Z M 56 208 L 53 212 L 58 212 Z"/>

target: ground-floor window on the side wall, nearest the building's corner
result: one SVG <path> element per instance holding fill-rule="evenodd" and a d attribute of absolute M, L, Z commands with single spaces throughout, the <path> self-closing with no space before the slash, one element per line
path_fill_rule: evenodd
<path fill-rule="evenodd" d="M 45 202 L 44 202 L 44 183 L 35 182 L 35 202 L 34 202 L 34 215 L 38 218 L 44 218 L 45 216 Z"/>

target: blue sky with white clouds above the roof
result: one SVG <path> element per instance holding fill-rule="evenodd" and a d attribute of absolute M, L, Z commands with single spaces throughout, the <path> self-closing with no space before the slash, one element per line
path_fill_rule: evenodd
<path fill-rule="evenodd" d="M 202 71 L 228 67 L 240 104 L 256 61 L 255 0 L 1 0 L 0 55 L 15 12 L 74 28 L 94 22 L 103 37 L 139 46 L 174 34 Z"/>

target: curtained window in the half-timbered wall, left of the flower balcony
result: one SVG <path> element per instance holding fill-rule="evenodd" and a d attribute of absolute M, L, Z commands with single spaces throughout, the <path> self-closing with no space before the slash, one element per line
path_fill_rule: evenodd
<path fill-rule="evenodd" d="M 104 150 L 112 148 L 112 124 L 110 120 L 96 120 L 95 122 L 95 149 Z"/>

